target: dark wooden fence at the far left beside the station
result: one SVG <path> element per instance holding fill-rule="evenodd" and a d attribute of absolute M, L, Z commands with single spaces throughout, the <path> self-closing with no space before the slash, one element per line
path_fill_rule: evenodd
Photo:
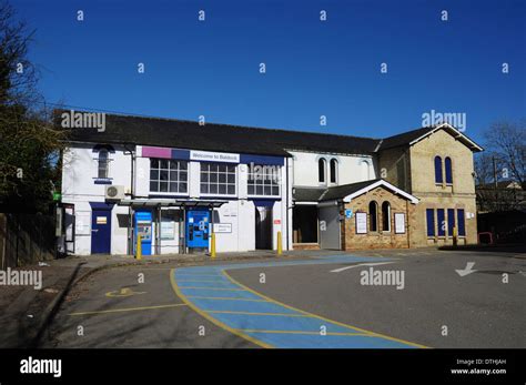
<path fill-rule="evenodd" d="M 54 217 L 0 213 L 0 267 L 17 267 L 55 259 Z"/>

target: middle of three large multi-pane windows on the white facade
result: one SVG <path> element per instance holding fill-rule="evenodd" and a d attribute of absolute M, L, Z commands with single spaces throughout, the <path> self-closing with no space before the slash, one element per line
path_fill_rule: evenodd
<path fill-rule="evenodd" d="M 235 195 L 235 165 L 201 163 L 201 194 Z"/>

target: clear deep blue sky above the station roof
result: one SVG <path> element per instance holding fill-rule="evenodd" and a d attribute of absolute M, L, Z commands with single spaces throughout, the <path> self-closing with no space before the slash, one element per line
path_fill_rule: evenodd
<path fill-rule="evenodd" d="M 373 138 L 418 128 L 431 110 L 466 113 L 478 141 L 526 118 L 525 1 L 11 3 L 37 30 L 30 58 L 49 102 Z"/>

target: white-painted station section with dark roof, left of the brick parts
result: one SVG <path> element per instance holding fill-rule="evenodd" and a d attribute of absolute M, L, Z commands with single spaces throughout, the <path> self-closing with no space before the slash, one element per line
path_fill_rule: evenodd
<path fill-rule="evenodd" d="M 275 250 L 279 234 L 284 250 L 341 249 L 338 202 L 377 182 L 381 143 L 107 115 L 63 153 L 63 247 L 133 254 L 141 234 L 144 254 L 202 252 L 213 232 L 218 252 Z"/>

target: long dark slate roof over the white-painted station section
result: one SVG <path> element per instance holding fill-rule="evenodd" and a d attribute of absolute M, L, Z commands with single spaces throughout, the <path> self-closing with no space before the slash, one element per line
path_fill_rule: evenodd
<path fill-rule="evenodd" d="M 55 114 L 62 112 L 68 111 Z M 285 150 L 372 154 L 380 142 L 371 138 L 215 123 L 200 125 L 194 121 L 117 114 L 107 114 L 103 132 L 73 129 L 69 138 L 80 142 L 135 143 L 282 156 L 290 156 Z"/>

